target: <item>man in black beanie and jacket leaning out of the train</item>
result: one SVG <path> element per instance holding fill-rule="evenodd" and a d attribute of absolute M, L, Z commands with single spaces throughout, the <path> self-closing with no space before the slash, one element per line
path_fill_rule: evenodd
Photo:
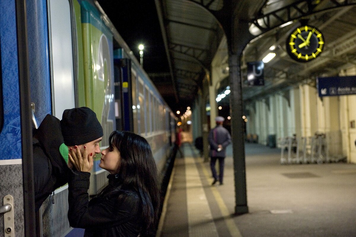
<path fill-rule="evenodd" d="M 35 209 L 38 211 L 43 201 L 73 175 L 72 164 L 68 162 L 69 149 L 78 145 L 82 151 L 85 146 L 89 154 L 100 153 L 103 128 L 94 111 L 81 107 L 66 109 L 61 121 L 47 114 L 32 132 Z"/>

